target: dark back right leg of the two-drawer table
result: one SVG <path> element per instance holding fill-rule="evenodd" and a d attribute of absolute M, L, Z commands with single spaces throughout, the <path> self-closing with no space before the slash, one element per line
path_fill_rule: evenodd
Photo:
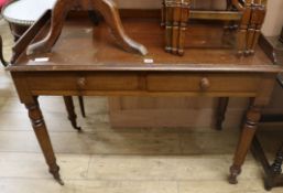
<path fill-rule="evenodd" d="M 222 130 L 222 122 L 225 120 L 225 114 L 228 107 L 229 97 L 221 97 L 219 98 L 219 104 L 217 107 L 217 118 L 216 118 L 216 129 Z"/>

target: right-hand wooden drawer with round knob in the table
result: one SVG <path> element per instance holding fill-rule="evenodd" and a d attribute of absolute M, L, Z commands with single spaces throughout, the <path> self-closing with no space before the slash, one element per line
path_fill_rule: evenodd
<path fill-rule="evenodd" d="M 257 92 L 260 75 L 252 74 L 152 74 L 148 76 L 151 92 Z"/>

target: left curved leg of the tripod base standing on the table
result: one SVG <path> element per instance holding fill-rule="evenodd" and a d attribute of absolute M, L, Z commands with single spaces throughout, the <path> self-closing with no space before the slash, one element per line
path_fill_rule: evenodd
<path fill-rule="evenodd" d="M 61 35 L 67 12 L 74 6 L 75 0 L 57 0 L 53 11 L 51 29 L 45 39 L 28 47 L 28 53 L 50 52 Z"/>

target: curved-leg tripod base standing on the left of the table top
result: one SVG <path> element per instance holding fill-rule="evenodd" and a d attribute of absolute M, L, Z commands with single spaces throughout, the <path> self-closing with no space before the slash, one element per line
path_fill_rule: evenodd
<path fill-rule="evenodd" d="M 80 7 L 83 10 L 96 9 L 104 15 L 106 23 L 111 30 L 115 40 L 128 52 L 148 54 L 146 47 L 130 39 L 123 30 L 120 21 L 118 7 L 109 0 L 57 0 L 52 14 L 50 32 L 43 40 L 31 44 L 29 53 L 50 52 L 61 35 L 67 13 L 74 8 Z"/>

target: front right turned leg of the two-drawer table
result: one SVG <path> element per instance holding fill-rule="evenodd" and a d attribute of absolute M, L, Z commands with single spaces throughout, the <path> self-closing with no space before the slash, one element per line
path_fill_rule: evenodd
<path fill-rule="evenodd" d="M 230 168 L 229 183 L 237 184 L 237 176 L 241 173 L 241 167 L 250 149 L 258 124 L 261 117 L 261 107 L 251 106 L 247 112 L 247 118 L 238 142 L 237 151 L 233 158 L 233 164 Z"/>

